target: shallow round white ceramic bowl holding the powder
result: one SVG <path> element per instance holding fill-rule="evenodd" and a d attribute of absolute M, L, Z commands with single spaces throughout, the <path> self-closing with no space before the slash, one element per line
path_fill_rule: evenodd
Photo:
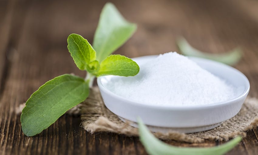
<path fill-rule="evenodd" d="M 137 57 L 133 60 L 139 64 L 154 59 L 154 56 Z M 137 127 L 137 117 L 154 132 L 166 132 L 175 130 L 182 133 L 194 133 L 213 129 L 223 121 L 235 116 L 241 109 L 246 96 L 250 90 L 250 84 L 246 76 L 240 71 L 228 65 L 202 59 L 189 57 L 199 66 L 212 74 L 226 80 L 236 88 L 236 97 L 225 102 L 212 103 L 208 105 L 171 107 L 146 105 L 130 101 L 111 92 L 107 87 L 114 76 L 103 76 L 97 79 L 102 98 L 107 108 L 118 115 L 123 121 L 131 121 L 131 125 Z"/>

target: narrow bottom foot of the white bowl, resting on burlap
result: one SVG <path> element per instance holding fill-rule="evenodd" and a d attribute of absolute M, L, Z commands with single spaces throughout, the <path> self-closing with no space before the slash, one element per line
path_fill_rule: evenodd
<path fill-rule="evenodd" d="M 118 116 L 123 122 L 126 122 L 126 119 Z M 196 127 L 182 127 L 182 128 L 172 128 L 172 127 L 159 127 L 159 126 L 149 126 L 147 125 L 148 129 L 151 130 L 152 132 L 160 132 L 160 133 L 168 133 L 168 131 L 173 130 L 177 131 L 179 133 L 197 133 L 201 131 L 207 131 L 213 128 L 216 128 L 217 126 L 221 125 L 222 122 L 208 125 L 208 126 L 196 126 Z M 138 125 L 136 122 L 130 122 L 130 126 L 138 128 Z"/>

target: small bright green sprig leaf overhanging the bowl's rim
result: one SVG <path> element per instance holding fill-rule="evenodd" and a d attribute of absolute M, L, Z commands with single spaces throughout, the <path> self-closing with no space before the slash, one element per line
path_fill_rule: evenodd
<path fill-rule="evenodd" d="M 97 76 L 134 76 L 138 74 L 139 70 L 140 67 L 132 59 L 122 55 L 110 55 L 100 63 Z"/>

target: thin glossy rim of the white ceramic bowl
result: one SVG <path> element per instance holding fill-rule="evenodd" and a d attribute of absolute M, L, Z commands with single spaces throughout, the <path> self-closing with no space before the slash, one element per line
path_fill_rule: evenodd
<path fill-rule="evenodd" d="M 134 59 L 140 59 L 140 58 L 146 58 L 146 57 L 155 57 L 158 55 L 147 55 L 147 56 L 141 56 L 141 57 L 134 57 L 132 58 Z M 142 102 L 137 102 L 135 100 L 130 100 L 128 98 L 124 98 L 120 95 L 115 94 L 114 92 L 110 91 L 107 87 L 105 87 L 103 85 L 103 83 L 101 82 L 102 78 L 106 78 L 106 76 L 102 76 L 102 77 L 98 77 L 97 78 L 97 84 L 100 88 L 100 90 L 105 91 L 108 95 L 110 95 L 111 97 L 126 101 L 127 103 L 130 103 L 134 106 L 139 106 L 139 107 L 144 107 L 144 108 L 155 108 L 155 109 L 162 109 L 162 110 L 192 110 L 192 109 L 205 109 L 205 108 L 214 108 L 214 107 L 219 107 L 219 106 L 226 106 L 226 105 L 230 105 L 232 103 L 236 103 L 237 100 L 242 99 L 243 97 L 247 96 L 249 91 L 250 91 L 250 82 L 249 80 L 246 78 L 246 76 L 240 72 L 239 70 L 237 70 L 234 67 L 231 67 L 229 65 L 214 61 L 214 60 L 209 60 L 209 59 L 205 59 L 205 58 L 199 58 L 199 57 L 189 57 L 189 58 L 193 58 L 193 59 L 199 59 L 199 60 L 205 60 L 205 61 L 210 61 L 211 63 L 215 63 L 217 65 L 222 65 L 224 67 L 227 67 L 233 71 L 236 71 L 238 74 L 240 74 L 244 79 L 245 79 L 245 90 L 238 95 L 235 98 L 232 98 L 228 101 L 223 101 L 223 102 L 215 102 L 215 103 L 211 103 L 211 104 L 206 104 L 206 105 L 187 105 L 187 106 L 175 106 L 175 105 L 148 105 L 147 103 L 142 103 Z M 107 75 L 107 76 L 114 76 L 114 75 Z M 247 86 L 247 87 L 246 87 Z"/>

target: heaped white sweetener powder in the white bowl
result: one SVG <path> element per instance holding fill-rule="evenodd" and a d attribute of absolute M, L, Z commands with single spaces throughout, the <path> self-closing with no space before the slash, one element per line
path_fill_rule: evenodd
<path fill-rule="evenodd" d="M 134 77 L 115 77 L 115 94 L 148 105 L 205 105 L 234 97 L 233 86 L 176 52 L 160 54 Z"/>

